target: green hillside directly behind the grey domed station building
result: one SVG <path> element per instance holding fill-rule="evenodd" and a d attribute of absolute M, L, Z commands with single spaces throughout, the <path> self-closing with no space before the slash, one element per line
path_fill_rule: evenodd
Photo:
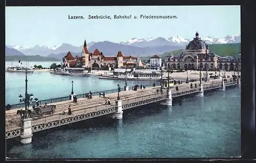
<path fill-rule="evenodd" d="M 241 43 L 224 43 L 224 44 L 209 44 L 210 52 L 215 53 L 218 56 L 234 56 L 241 53 Z M 169 53 L 172 55 L 178 55 L 182 53 L 184 49 L 165 52 L 160 57 L 165 58 Z"/>

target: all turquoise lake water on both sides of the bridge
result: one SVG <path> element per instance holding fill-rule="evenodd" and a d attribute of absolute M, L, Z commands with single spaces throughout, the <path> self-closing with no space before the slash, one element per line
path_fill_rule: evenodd
<path fill-rule="evenodd" d="M 97 76 L 70 77 L 49 72 L 28 74 L 29 93 L 39 99 L 117 88 L 125 81 Z M 139 81 L 128 81 L 128 85 Z M 152 82 L 143 82 L 150 84 Z M 25 74 L 6 73 L 6 103 L 25 94 Z M 99 117 L 33 133 L 32 143 L 7 139 L 7 157 L 131 158 L 230 157 L 241 155 L 240 88 L 186 97 L 172 107 L 159 103 L 125 110 L 122 120 Z"/>

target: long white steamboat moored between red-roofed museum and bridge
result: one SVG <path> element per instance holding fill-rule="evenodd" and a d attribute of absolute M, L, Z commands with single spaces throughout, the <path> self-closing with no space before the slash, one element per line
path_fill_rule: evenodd
<path fill-rule="evenodd" d="M 161 71 L 154 69 L 114 69 L 110 74 L 101 74 L 99 79 L 160 81 Z"/>

